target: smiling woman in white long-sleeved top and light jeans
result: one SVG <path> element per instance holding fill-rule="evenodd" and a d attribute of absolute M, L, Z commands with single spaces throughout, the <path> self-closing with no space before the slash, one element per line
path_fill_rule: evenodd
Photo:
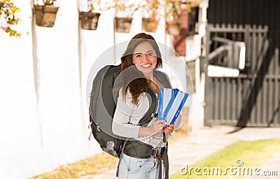
<path fill-rule="evenodd" d="M 160 87 L 171 87 L 167 75 L 158 71 L 162 58 L 153 36 L 134 36 L 121 62 L 122 78 L 112 131 L 127 141 L 118 161 L 118 177 L 155 179 L 162 178 L 163 173 L 168 176 L 167 138 L 174 124 L 165 125 L 166 121 L 157 117 L 143 119 L 151 108 L 151 100 L 157 100 L 155 94 Z"/>

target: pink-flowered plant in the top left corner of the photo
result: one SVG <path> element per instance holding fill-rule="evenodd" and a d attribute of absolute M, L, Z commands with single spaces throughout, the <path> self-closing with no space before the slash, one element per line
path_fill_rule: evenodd
<path fill-rule="evenodd" d="M 0 26 L 3 31 L 10 36 L 19 37 L 22 34 L 15 30 L 15 26 L 20 21 L 16 14 L 20 11 L 18 6 L 15 6 L 10 0 L 0 0 Z"/>

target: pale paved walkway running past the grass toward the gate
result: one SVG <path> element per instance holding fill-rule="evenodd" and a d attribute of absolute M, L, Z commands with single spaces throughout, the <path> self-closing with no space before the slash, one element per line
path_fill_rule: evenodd
<path fill-rule="evenodd" d="M 180 171 L 186 164 L 195 162 L 221 150 L 226 145 L 236 141 L 253 141 L 259 139 L 280 138 L 280 128 L 272 127 L 249 127 L 236 128 L 228 126 L 202 127 L 188 136 L 183 136 L 180 140 L 174 138 L 169 145 L 169 173 L 172 175 Z M 277 171 L 278 177 L 266 176 L 266 178 L 280 178 L 280 148 L 274 157 L 268 159 L 267 163 L 261 167 L 262 171 Z M 80 179 L 115 178 L 115 170 L 99 173 L 95 176 L 85 176 Z M 250 176 L 248 178 L 263 178 L 263 176 Z"/>

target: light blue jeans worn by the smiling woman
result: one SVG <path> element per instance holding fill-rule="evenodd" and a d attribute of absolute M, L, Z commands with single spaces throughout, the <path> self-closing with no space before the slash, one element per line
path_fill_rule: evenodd
<path fill-rule="evenodd" d="M 161 161 L 162 162 L 162 161 Z M 160 165 L 153 157 L 138 159 L 123 154 L 118 173 L 119 179 L 158 179 Z M 164 167 L 162 163 L 162 176 Z M 162 177 L 163 178 L 163 177 Z"/>

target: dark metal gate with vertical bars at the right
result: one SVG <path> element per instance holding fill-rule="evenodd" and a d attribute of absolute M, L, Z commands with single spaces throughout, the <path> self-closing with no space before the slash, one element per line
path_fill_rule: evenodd
<path fill-rule="evenodd" d="M 219 3 L 221 0 L 211 1 Z M 242 2 L 258 3 L 256 1 Z M 221 4 L 223 4 L 222 1 Z M 237 5 L 245 6 L 242 3 L 237 3 Z M 209 8 L 211 8 L 211 4 Z M 263 8 L 263 10 L 265 9 Z M 274 9 L 276 10 L 276 8 Z M 226 9 L 221 11 L 223 13 L 227 12 Z M 279 13 L 276 11 L 274 14 Z M 216 22 L 218 21 L 216 20 Z M 223 20 L 220 20 L 220 22 L 215 25 L 207 25 L 207 66 L 227 67 L 229 61 L 233 60 L 223 52 L 211 60 L 207 59 L 209 54 L 221 45 L 221 42 L 213 41 L 214 37 L 218 37 L 230 41 L 242 41 L 246 44 L 245 68 L 239 70 L 239 76 L 236 77 L 207 76 L 205 124 L 280 127 L 280 22 L 274 22 L 278 23 L 274 25 L 272 25 L 273 23 L 260 23 L 258 26 L 223 24 L 222 22 L 225 22 Z"/>

